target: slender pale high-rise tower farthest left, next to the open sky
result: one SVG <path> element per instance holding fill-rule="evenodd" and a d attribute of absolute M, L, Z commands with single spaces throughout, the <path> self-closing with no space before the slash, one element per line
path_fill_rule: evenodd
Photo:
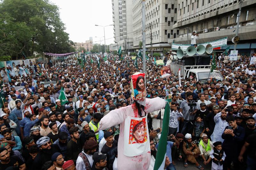
<path fill-rule="evenodd" d="M 112 0 L 112 13 L 115 44 L 110 45 L 110 50 L 116 51 L 120 46 L 124 50 L 132 49 L 132 1 Z"/>

